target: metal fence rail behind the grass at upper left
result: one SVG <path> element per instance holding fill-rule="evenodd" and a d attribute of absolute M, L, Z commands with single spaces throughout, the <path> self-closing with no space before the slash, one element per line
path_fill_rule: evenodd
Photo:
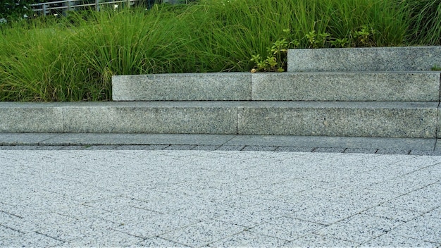
<path fill-rule="evenodd" d="M 66 15 L 67 11 L 77 11 L 83 9 L 94 9 L 99 11 L 101 6 L 110 6 L 111 8 L 120 8 L 122 6 L 134 6 L 139 3 L 150 3 L 152 0 L 61 0 L 48 1 L 39 4 L 31 4 L 32 11 L 38 15 Z M 179 0 L 162 0 L 161 3 L 176 4 Z M 187 2 L 187 1 L 184 1 Z"/>

